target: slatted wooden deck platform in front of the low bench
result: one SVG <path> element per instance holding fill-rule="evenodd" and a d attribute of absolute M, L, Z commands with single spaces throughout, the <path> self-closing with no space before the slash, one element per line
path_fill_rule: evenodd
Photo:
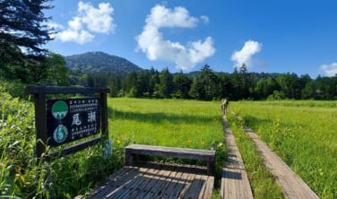
<path fill-rule="evenodd" d="M 200 167 L 145 163 L 125 166 L 87 198 L 211 198 L 214 177 Z"/>

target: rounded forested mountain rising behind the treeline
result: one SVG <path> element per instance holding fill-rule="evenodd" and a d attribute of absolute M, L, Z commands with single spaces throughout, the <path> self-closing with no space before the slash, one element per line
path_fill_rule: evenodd
<path fill-rule="evenodd" d="M 123 57 L 103 52 L 87 52 L 65 56 L 65 65 L 73 71 L 92 74 L 129 74 L 143 69 Z"/>

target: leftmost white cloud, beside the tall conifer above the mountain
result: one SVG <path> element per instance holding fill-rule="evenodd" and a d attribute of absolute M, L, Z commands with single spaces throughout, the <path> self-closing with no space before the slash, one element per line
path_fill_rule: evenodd
<path fill-rule="evenodd" d="M 66 29 L 58 26 L 59 31 L 53 38 L 78 44 L 91 42 L 95 38 L 92 32 L 105 34 L 114 32 L 116 24 L 111 16 L 113 12 L 114 9 L 109 3 L 100 3 L 98 8 L 95 8 L 90 3 L 80 1 L 77 15 L 68 22 Z"/>

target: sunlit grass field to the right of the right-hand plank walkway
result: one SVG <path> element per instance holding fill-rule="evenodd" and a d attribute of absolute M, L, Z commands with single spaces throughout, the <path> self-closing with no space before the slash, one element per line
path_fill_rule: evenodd
<path fill-rule="evenodd" d="M 321 198 L 337 198 L 336 101 L 240 101 L 230 107 Z"/>

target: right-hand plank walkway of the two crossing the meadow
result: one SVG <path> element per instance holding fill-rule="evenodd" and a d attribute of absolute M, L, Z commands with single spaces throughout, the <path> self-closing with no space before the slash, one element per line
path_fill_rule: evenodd
<path fill-rule="evenodd" d="M 250 128 L 245 127 L 244 130 L 255 142 L 267 168 L 270 169 L 287 198 L 319 198 L 302 178 L 298 177 Z"/>

